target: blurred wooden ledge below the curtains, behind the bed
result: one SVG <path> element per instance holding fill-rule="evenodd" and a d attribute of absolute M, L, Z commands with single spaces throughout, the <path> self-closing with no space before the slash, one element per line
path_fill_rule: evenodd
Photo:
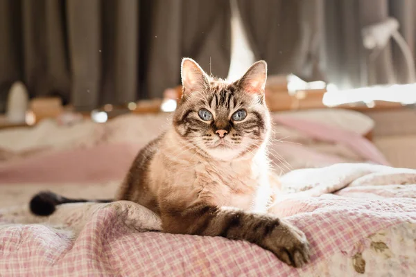
<path fill-rule="evenodd" d="M 270 76 L 268 78 L 266 102 L 270 111 L 331 108 L 325 106 L 322 102 L 324 93 L 327 92 L 326 89 L 298 89 L 297 91 L 289 92 L 288 87 L 290 86 L 286 76 Z M 302 87 L 302 80 L 300 81 L 300 87 Z M 108 120 L 130 112 L 133 114 L 156 114 L 163 112 L 161 107 L 164 101 L 179 101 L 181 97 L 182 86 L 177 86 L 173 89 L 166 89 L 164 91 L 164 99 L 139 100 L 119 106 L 107 104 L 96 111 L 104 111 Z M 173 104 L 175 105 L 175 102 Z M 336 108 L 353 109 L 363 113 L 406 109 L 400 103 L 386 101 L 373 101 L 368 104 L 351 103 L 339 105 Z M 35 98 L 29 104 L 26 123 L 9 123 L 6 116 L 0 116 L 0 129 L 35 125 L 44 118 L 57 118 L 64 114 L 64 111 L 73 111 L 73 108 L 70 105 L 63 107 L 59 98 Z M 85 111 L 80 114 L 84 118 L 91 118 L 91 111 Z"/>

